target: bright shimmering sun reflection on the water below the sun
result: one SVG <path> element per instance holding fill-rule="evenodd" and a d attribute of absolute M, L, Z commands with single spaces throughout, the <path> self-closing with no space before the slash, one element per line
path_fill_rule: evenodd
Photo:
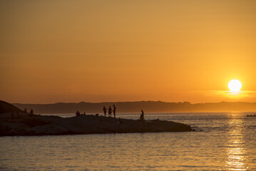
<path fill-rule="evenodd" d="M 227 170 L 247 170 L 245 165 L 245 140 L 244 134 L 244 120 L 240 118 L 239 114 L 230 114 L 228 120 L 229 131 L 227 132 Z"/>

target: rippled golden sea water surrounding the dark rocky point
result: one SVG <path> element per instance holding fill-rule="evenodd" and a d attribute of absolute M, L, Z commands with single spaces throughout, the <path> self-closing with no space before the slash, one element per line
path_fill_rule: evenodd
<path fill-rule="evenodd" d="M 246 114 L 145 114 L 190 133 L 0 137 L 0 170 L 256 170 L 256 118 Z"/>

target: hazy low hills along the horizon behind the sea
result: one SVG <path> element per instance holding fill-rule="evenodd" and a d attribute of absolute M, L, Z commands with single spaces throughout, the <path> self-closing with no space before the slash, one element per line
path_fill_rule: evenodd
<path fill-rule="evenodd" d="M 116 105 L 117 113 L 147 112 L 225 112 L 225 111 L 256 111 L 256 103 L 220 102 L 220 103 L 166 103 L 162 101 L 136 101 L 114 103 L 53 103 L 53 104 L 20 104 L 14 103 L 17 108 L 33 108 L 35 113 L 103 113 L 103 106 L 108 108 Z"/>

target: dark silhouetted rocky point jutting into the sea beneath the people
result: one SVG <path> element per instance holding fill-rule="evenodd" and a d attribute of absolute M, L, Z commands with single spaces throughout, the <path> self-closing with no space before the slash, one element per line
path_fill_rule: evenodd
<path fill-rule="evenodd" d="M 76 135 L 103 133 L 160 133 L 192 131 L 190 125 L 166 120 L 118 119 L 98 115 L 61 118 L 53 115 L 22 113 L 11 118 L 11 113 L 0 116 L 0 136 L 14 135 Z"/>

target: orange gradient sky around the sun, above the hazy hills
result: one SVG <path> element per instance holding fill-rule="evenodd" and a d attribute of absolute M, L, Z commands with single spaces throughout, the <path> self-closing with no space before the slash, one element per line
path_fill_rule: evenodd
<path fill-rule="evenodd" d="M 2 0 L 0 24 L 10 103 L 256 102 L 253 0 Z"/>

